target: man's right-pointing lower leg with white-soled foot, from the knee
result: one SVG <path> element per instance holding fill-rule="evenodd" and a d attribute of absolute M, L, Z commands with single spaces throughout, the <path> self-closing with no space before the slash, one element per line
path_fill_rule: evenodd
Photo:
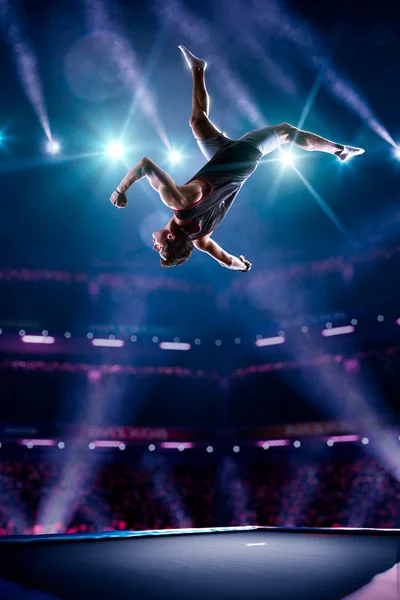
<path fill-rule="evenodd" d="M 309 152 L 327 152 L 329 154 L 334 154 L 342 162 L 346 162 L 358 154 L 364 154 L 362 148 L 354 148 L 352 146 L 338 144 L 337 142 L 331 142 L 320 135 L 303 131 L 289 123 L 281 123 L 274 127 L 274 130 L 278 133 L 281 144 L 292 143 Z"/>

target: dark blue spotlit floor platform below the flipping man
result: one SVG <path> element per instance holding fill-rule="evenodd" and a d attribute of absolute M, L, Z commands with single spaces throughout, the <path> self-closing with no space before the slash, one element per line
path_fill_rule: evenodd
<path fill-rule="evenodd" d="M 0 598 L 336 600 L 399 556 L 400 530 L 244 527 L 11 537 L 0 542 Z"/>

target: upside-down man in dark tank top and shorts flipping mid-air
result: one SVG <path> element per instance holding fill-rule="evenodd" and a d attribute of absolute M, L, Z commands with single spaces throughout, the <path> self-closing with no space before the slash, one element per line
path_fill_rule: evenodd
<path fill-rule="evenodd" d="M 184 263 L 193 248 L 206 252 L 223 267 L 246 273 L 251 263 L 221 248 L 211 234 L 225 217 L 244 182 L 257 168 L 260 159 L 278 146 L 291 143 L 308 151 L 328 152 L 345 162 L 362 148 L 330 142 L 318 135 L 301 131 L 289 123 L 263 127 L 237 140 L 224 135 L 208 118 L 209 97 L 204 72 L 207 63 L 179 46 L 192 71 L 193 96 L 190 127 L 208 163 L 185 185 L 173 179 L 149 158 L 142 158 L 121 181 L 110 200 L 124 208 L 128 188 L 147 177 L 162 202 L 174 211 L 168 223 L 153 233 L 153 249 L 160 255 L 162 267 Z"/>

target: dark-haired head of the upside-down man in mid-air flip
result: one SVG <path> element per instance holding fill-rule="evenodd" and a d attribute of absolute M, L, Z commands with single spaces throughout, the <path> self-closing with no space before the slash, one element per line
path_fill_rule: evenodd
<path fill-rule="evenodd" d="M 153 233 L 153 250 L 159 253 L 162 267 L 177 267 L 192 256 L 193 242 L 183 229 L 161 229 Z"/>

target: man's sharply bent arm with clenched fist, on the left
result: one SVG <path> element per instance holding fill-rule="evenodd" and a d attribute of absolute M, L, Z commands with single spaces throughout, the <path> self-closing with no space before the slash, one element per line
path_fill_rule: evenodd
<path fill-rule="evenodd" d="M 143 177 L 147 177 L 151 187 L 160 194 L 160 198 L 166 206 L 173 209 L 181 206 L 182 194 L 179 192 L 175 181 L 147 157 L 141 158 L 125 175 L 111 195 L 110 201 L 112 204 L 118 208 L 124 208 L 128 204 L 127 190 Z"/>

